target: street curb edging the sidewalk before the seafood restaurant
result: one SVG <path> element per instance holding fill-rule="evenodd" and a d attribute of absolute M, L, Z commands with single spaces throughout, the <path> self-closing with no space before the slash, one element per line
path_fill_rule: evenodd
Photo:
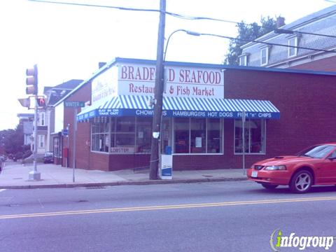
<path fill-rule="evenodd" d="M 116 182 L 97 182 L 97 183 L 62 183 L 50 185 L 20 185 L 20 186 L 0 186 L 0 189 L 37 189 L 37 188 L 77 188 L 90 186 L 143 186 L 143 185 L 162 185 L 173 183 L 204 183 L 204 182 L 225 182 L 225 181 L 246 181 L 247 178 L 215 178 L 215 179 L 172 179 L 155 181 L 116 181 Z"/>

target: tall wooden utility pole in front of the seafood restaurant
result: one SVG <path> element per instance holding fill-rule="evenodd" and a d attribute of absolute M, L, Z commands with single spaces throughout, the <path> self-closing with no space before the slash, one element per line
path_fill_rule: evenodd
<path fill-rule="evenodd" d="M 156 70 L 155 70 L 155 94 L 154 94 L 154 115 L 152 126 L 152 143 L 151 143 L 151 161 L 149 179 L 158 179 L 158 166 L 160 159 L 159 139 L 161 132 L 162 117 L 162 95 L 164 85 L 164 65 L 163 50 L 165 45 L 165 22 L 166 22 L 166 0 L 160 0 L 160 22 L 158 32 L 158 48 L 156 53 Z"/>

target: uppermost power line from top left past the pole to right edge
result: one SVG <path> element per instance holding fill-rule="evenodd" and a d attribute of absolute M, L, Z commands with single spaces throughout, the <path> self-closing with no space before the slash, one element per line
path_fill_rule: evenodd
<path fill-rule="evenodd" d="M 104 6 L 104 5 L 97 5 L 97 4 L 87 4 L 87 3 L 69 3 L 69 2 L 61 2 L 61 1 L 46 1 L 46 0 L 28 0 L 28 1 L 35 1 L 35 2 L 40 2 L 40 3 L 59 3 L 59 4 L 65 4 L 65 5 L 74 5 L 74 6 L 86 6 L 86 7 L 98 7 L 98 8 L 114 8 L 118 10 L 132 10 L 132 11 L 148 11 L 148 12 L 156 12 L 160 13 L 160 10 L 157 9 L 148 9 L 148 8 L 127 8 L 127 7 L 120 7 L 120 6 Z M 207 18 L 207 17 L 193 17 L 193 16 L 188 16 L 188 15 L 181 15 L 178 13 L 172 13 L 169 11 L 165 11 L 165 14 L 171 15 L 174 18 L 181 18 L 185 20 L 210 20 L 210 21 L 218 21 L 218 22 L 228 22 L 231 24 L 236 24 L 236 25 L 246 25 L 246 26 L 251 26 L 251 27 L 260 27 L 263 28 L 261 25 L 255 24 L 246 24 L 245 22 L 235 22 L 235 21 L 230 21 L 230 20 L 223 20 L 223 19 L 218 19 L 218 18 Z M 281 29 L 283 31 L 288 31 L 290 34 L 309 34 L 309 35 L 315 35 L 315 36 L 325 36 L 329 38 L 336 38 L 336 36 L 328 35 L 328 34 L 315 34 L 311 32 L 304 32 L 304 31 L 293 31 L 293 30 L 288 30 L 288 29 Z M 276 33 L 276 32 L 275 32 Z"/>

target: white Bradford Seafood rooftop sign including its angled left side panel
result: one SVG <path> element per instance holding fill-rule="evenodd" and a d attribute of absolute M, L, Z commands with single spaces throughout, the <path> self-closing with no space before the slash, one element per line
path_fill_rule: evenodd
<path fill-rule="evenodd" d="M 119 94 L 154 95 L 155 65 L 123 63 L 92 80 L 92 102 Z M 165 66 L 165 96 L 224 97 L 224 71 L 204 66 Z"/>

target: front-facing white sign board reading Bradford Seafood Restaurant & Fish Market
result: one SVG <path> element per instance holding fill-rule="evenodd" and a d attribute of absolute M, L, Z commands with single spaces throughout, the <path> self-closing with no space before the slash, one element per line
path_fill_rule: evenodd
<path fill-rule="evenodd" d="M 154 92 L 154 65 L 119 66 L 118 94 L 153 95 Z M 164 96 L 223 98 L 224 72 L 204 67 L 166 66 Z"/>

